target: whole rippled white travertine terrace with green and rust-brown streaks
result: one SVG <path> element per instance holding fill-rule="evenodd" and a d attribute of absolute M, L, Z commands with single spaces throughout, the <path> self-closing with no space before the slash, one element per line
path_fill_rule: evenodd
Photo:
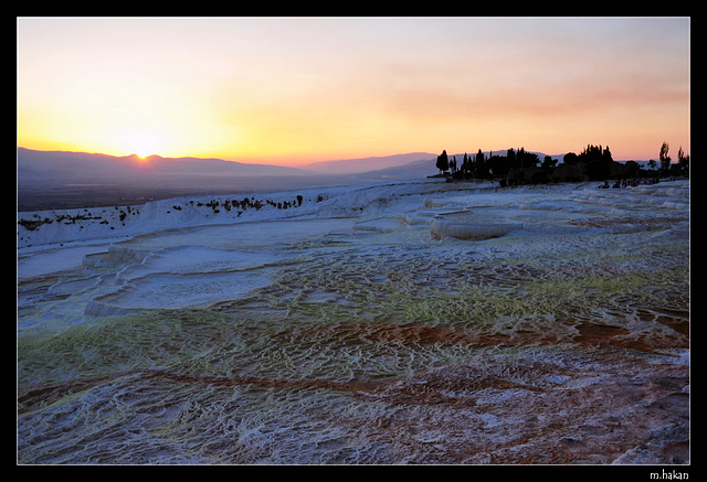
<path fill-rule="evenodd" d="M 685 463 L 685 188 L 365 191 L 28 277 L 18 461 Z"/>

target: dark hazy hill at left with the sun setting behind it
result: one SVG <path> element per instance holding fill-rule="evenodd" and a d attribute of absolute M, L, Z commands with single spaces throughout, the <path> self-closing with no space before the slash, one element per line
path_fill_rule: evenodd
<path fill-rule="evenodd" d="M 294 189 L 300 169 L 221 159 L 115 157 L 18 148 L 18 211 L 143 204 L 180 195 Z"/>

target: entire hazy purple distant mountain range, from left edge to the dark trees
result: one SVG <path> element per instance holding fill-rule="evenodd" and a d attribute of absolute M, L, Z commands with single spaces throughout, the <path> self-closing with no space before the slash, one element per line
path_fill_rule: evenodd
<path fill-rule="evenodd" d="M 506 150 L 494 151 L 505 154 Z M 546 154 L 536 152 L 539 159 Z M 475 154 L 471 153 L 469 154 Z M 484 152 L 489 156 L 488 151 Z M 449 154 L 461 163 L 464 153 Z M 563 154 L 552 156 L 562 160 Z M 299 169 L 222 159 L 107 156 L 18 148 L 19 211 L 70 208 L 182 195 L 289 191 L 437 174 L 437 154 L 407 154 L 314 162 Z"/>

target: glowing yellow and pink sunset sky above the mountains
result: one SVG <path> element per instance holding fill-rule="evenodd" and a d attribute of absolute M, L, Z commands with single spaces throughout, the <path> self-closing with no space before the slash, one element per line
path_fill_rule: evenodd
<path fill-rule="evenodd" d="M 18 146 L 689 153 L 689 18 L 18 18 Z"/>

